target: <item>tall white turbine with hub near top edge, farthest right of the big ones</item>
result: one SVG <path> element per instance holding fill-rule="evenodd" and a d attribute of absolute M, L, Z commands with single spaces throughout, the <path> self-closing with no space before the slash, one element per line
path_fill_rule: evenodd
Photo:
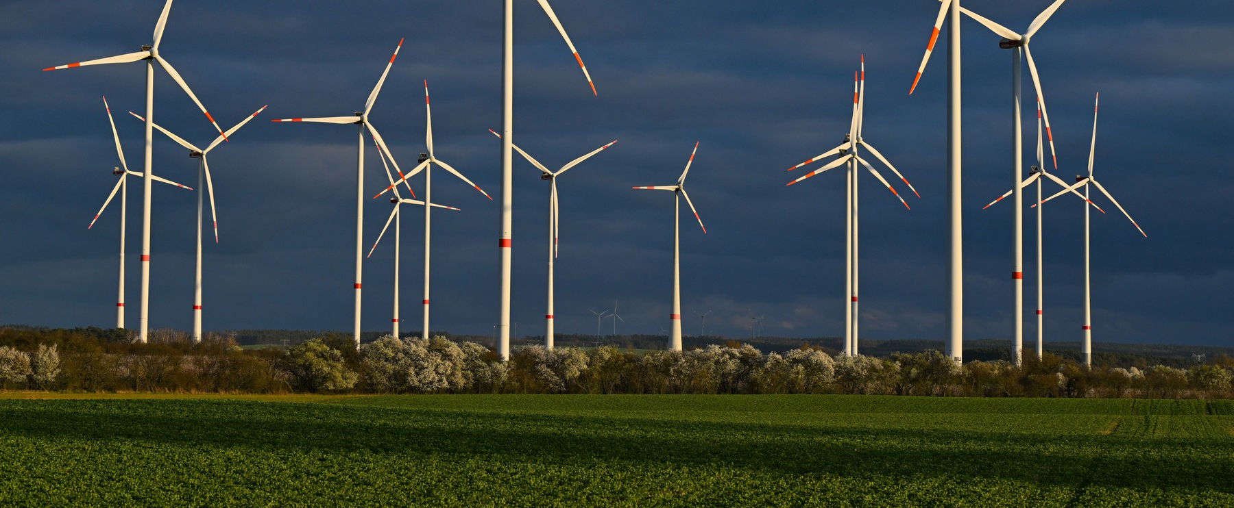
<path fill-rule="evenodd" d="M 1021 132 L 1023 122 L 1021 121 L 1019 109 L 1021 109 L 1021 55 L 1028 59 L 1028 70 L 1033 78 L 1033 88 L 1037 90 L 1037 107 L 1041 112 L 1041 118 L 1045 121 L 1045 136 L 1050 142 L 1050 157 L 1054 159 L 1054 170 L 1059 169 L 1059 158 L 1054 153 L 1054 133 L 1050 131 L 1050 115 L 1045 109 L 1045 95 L 1041 94 L 1041 81 L 1037 75 L 1037 64 L 1033 62 L 1033 52 L 1028 48 L 1029 41 L 1032 41 L 1033 35 L 1054 15 L 1059 6 L 1066 0 L 1055 0 L 1049 7 L 1045 7 L 1041 14 L 1037 15 L 1028 26 L 1028 31 L 1024 33 L 1016 33 L 1009 28 L 990 21 L 967 9 L 961 9 L 961 11 L 976 20 L 979 23 L 990 28 L 1003 37 L 998 42 L 998 47 L 1003 49 L 1013 49 L 1011 54 L 1012 65 L 1012 80 L 1011 80 L 1011 94 L 1012 94 L 1012 215 L 1013 215 L 1013 227 L 1012 227 L 1012 272 L 1011 279 L 1014 285 L 1014 305 L 1012 309 L 1012 359 L 1016 365 L 1023 364 L 1023 349 L 1024 349 L 1024 202 L 1021 192 L 1021 168 L 1023 168 L 1023 133 Z"/>

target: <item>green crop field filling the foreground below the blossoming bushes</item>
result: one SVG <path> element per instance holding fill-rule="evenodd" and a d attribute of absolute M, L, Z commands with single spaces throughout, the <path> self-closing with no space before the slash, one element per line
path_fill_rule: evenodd
<path fill-rule="evenodd" d="M 0 504 L 1234 506 L 1232 401 L 35 397 Z"/>

